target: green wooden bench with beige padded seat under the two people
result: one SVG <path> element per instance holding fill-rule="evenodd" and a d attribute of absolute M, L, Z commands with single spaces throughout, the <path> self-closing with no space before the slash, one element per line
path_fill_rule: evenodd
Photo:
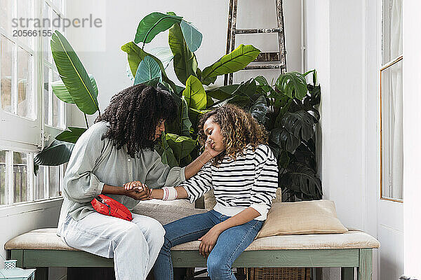
<path fill-rule="evenodd" d="M 168 205 L 137 207 L 134 212 L 152 216 L 163 224 L 203 210 Z M 176 211 L 175 211 L 176 210 Z M 183 212 L 185 211 L 185 213 Z M 168 217 L 168 213 L 174 214 Z M 166 215 L 162 215 L 166 214 Z M 48 279 L 48 267 L 114 267 L 113 260 L 67 246 L 55 228 L 32 230 L 5 245 L 18 266 L 36 268 L 36 279 Z M 199 241 L 172 249 L 174 267 L 206 267 L 198 253 Z M 350 230 L 333 235 L 283 235 L 256 239 L 234 262 L 234 267 L 342 267 L 342 279 L 371 279 L 373 248 L 379 242 L 365 232 Z"/>

